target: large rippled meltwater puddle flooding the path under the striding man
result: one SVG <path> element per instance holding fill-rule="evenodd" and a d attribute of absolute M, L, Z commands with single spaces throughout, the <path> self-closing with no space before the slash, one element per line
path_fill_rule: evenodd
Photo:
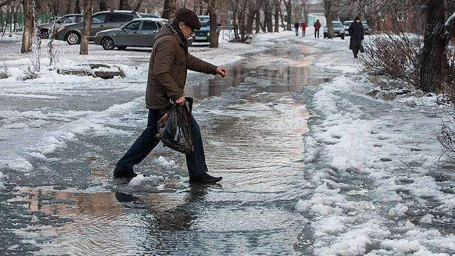
<path fill-rule="evenodd" d="M 309 114 L 294 99 L 333 75 L 313 68 L 312 58 L 304 45 L 282 42 L 236 63 L 228 78 L 190 75 L 187 95 L 198 99 L 194 115 L 209 170 L 224 178 L 219 185 L 189 185 L 184 157 L 161 146 L 138 170 L 162 180 L 116 185 L 113 163 L 127 145 L 115 136 L 81 136 L 60 163 L 40 163 L 49 173 L 2 195 L 0 247 L 36 254 L 304 251 L 304 217 L 294 206 L 307 186 Z"/>

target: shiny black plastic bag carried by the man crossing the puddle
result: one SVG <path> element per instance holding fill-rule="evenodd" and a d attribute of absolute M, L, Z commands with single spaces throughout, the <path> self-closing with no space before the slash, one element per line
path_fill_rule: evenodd
<path fill-rule="evenodd" d="M 160 118 L 158 136 L 164 146 L 184 154 L 191 154 L 193 153 L 191 138 L 193 98 L 185 99 L 184 105 L 172 104 L 168 113 L 164 113 Z"/>

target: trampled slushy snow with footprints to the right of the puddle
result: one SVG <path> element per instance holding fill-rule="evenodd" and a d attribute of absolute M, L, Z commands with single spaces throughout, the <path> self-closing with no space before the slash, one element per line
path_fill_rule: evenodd
<path fill-rule="evenodd" d="M 313 96 L 321 120 L 304 141 L 314 192 L 296 204 L 309 216 L 313 253 L 455 253 L 445 234 L 455 220 L 453 184 L 435 180 L 440 146 L 428 136 L 443 111 L 353 93 L 362 83 L 341 75 Z M 435 218 L 439 230 L 428 225 Z"/>

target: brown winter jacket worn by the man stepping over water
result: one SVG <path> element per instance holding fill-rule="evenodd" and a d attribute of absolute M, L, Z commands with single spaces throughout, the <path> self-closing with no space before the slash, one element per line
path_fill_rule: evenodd
<path fill-rule="evenodd" d="M 162 109 L 184 95 L 187 69 L 216 74 L 216 66 L 202 61 L 185 50 L 180 37 L 167 25 L 156 35 L 150 57 L 146 104 L 148 109 Z"/>

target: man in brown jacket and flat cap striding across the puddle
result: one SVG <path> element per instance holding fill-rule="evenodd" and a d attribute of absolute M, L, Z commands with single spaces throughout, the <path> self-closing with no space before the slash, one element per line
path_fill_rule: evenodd
<path fill-rule="evenodd" d="M 178 9 L 175 20 L 164 25 L 155 37 L 146 90 L 146 105 L 149 109 L 147 128 L 117 162 L 114 178 L 132 178 L 136 174 L 133 166 L 139 164 L 158 145 L 157 123 L 168 109 L 170 100 L 175 104 L 185 104 L 184 88 L 187 70 L 224 77 L 228 71 L 216 67 L 188 53 L 187 39 L 200 29 L 198 16 L 189 9 Z M 207 174 L 204 147 L 199 125 L 192 117 L 191 137 L 194 152 L 186 155 L 191 183 L 215 183 L 222 177 Z"/>

